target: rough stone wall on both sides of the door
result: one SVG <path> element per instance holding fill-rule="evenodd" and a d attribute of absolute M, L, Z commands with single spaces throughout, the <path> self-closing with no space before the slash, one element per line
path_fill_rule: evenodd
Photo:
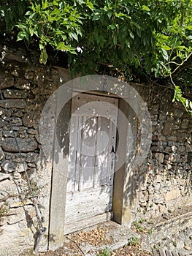
<path fill-rule="evenodd" d="M 32 250 L 38 236 L 25 170 L 45 227 L 49 224 L 52 165 L 41 150 L 39 118 L 50 94 L 70 80 L 70 75 L 66 69 L 40 65 L 36 52 L 0 48 L 0 87 L 9 116 L 1 99 L 0 255 L 15 255 L 23 249 Z M 192 118 L 180 103 L 172 103 L 172 89 L 134 87 L 149 107 L 153 141 L 146 162 L 134 173 L 132 219 L 166 218 L 172 211 L 192 204 Z M 47 249 L 47 233 L 39 249 Z"/>

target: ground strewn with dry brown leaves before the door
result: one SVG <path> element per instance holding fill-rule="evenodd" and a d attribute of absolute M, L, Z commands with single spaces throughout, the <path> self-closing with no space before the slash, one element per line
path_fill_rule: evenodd
<path fill-rule="evenodd" d="M 119 249 L 110 251 L 110 245 L 115 238 L 109 235 L 107 229 L 98 226 L 89 231 L 80 231 L 73 235 L 66 236 L 64 246 L 52 252 L 38 253 L 38 256 L 148 256 L 150 252 L 146 252 L 139 244 L 139 238 L 133 237 L 129 244 Z M 102 249 L 101 249 L 102 248 Z M 109 249 L 108 249 L 109 248 Z"/>

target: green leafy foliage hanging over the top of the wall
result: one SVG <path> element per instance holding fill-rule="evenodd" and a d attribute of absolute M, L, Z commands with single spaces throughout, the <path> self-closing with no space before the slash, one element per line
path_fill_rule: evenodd
<path fill-rule="evenodd" d="M 46 64 L 47 45 L 69 53 L 72 74 L 118 69 L 169 78 L 192 55 L 191 0 L 3 0 L 1 20 L 18 40 L 39 43 Z M 181 100 L 176 96 L 174 99 Z M 191 105 L 183 101 L 186 108 Z"/>

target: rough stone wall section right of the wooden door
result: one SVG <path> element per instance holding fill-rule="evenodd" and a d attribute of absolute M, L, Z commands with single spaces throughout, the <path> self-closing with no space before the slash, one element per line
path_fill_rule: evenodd
<path fill-rule="evenodd" d="M 153 138 L 146 162 L 135 175 L 133 218 L 166 219 L 192 204 L 192 118 L 183 105 L 172 103 L 172 89 L 145 87 L 140 94 L 150 110 Z M 190 97 L 191 92 L 186 94 Z"/>

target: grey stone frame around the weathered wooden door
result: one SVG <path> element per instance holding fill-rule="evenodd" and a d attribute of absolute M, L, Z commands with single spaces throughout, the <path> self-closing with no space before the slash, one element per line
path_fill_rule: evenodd
<path fill-rule="evenodd" d="M 83 93 L 83 91 L 72 90 L 71 94 L 76 91 Z M 91 94 L 103 95 L 107 97 L 118 97 L 114 94 L 106 94 L 101 91 L 91 91 Z M 126 100 L 121 97 L 119 99 L 119 111 L 122 111 L 128 119 L 130 113 Z M 56 116 L 60 113 L 63 107 L 62 95 L 57 94 Z M 134 115 L 133 115 L 134 116 Z M 113 219 L 119 224 L 131 225 L 131 183 L 132 175 L 131 168 L 128 167 L 126 162 L 127 151 L 127 138 L 128 127 L 123 123 L 123 119 L 118 115 L 118 131 L 122 132 L 121 141 L 119 142 L 117 154 L 123 158 L 125 164 L 116 170 L 114 175 L 113 184 L 113 200 L 112 211 L 114 214 Z M 56 131 L 55 131 L 56 132 Z M 55 134 L 56 137 L 56 134 Z M 62 173 L 67 173 L 68 158 L 63 157 L 63 152 L 58 144 L 58 140 L 54 139 L 54 156 L 53 156 L 53 170 L 52 170 L 52 183 L 50 191 L 50 218 L 48 230 L 48 249 L 57 249 L 64 244 L 64 220 L 65 220 L 65 205 L 66 205 L 66 176 Z"/>

